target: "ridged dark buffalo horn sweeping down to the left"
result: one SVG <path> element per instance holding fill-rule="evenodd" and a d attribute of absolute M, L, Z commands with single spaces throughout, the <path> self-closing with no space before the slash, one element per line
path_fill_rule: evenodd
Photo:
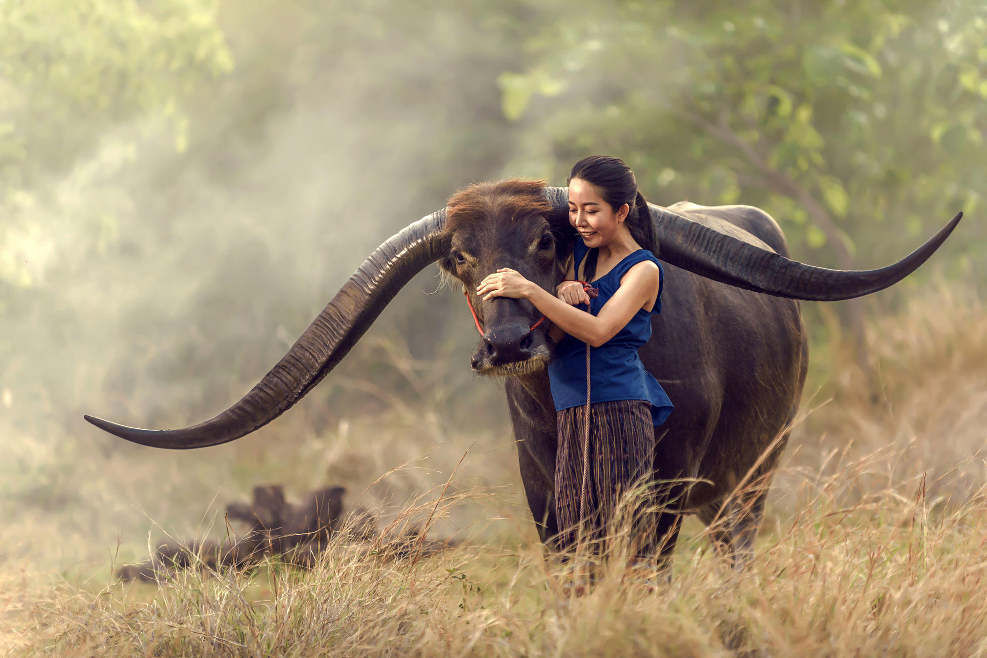
<path fill-rule="evenodd" d="M 219 416 L 184 429 L 126 428 L 86 416 L 97 428 L 158 448 L 202 448 L 261 428 L 298 402 L 370 328 L 385 306 L 429 263 L 449 251 L 445 209 L 381 244 L 343 284 L 281 361 L 247 395 Z"/>

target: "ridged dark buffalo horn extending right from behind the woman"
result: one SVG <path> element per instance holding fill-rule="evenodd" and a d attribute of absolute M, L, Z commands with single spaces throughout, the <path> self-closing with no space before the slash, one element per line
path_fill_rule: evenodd
<path fill-rule="evenodd" d="M 552 189 L 549 198 L 557 209 L 568 207 L 566 188 Z M 893 265 L 877 270 L 830 270 L 759 247 L 753 243 L 760 241 L 756 238 L 745 241 L 667 208 L 648 207 L 658 238 L 657 255 L 666 263 L 736 288 L 814 301 L 850 299 L 893 286 L 926 262 L 963 216 L 957 213 L 925 244 Z"/>

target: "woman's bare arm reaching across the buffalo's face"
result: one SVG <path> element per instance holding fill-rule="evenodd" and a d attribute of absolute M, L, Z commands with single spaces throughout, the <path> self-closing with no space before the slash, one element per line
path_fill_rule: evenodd
<path fill-rule="evenodd" d="M 477 293 L 484 300 L 495 296 L 527 299 L 567 334 L 598 348 L 616 336 L 638 310 L 657 296 L 660 283 L 661 274 L 657 265 L 651 261 L 638 263 L 628 270 L 620 288 L 596 315 L 570 306 L 506 267 L 484 279 L 477 287 Z"/>

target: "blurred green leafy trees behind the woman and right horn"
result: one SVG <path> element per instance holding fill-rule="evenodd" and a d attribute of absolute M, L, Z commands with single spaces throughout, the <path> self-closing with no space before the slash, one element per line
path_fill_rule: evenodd
<path fill-rule="evenodd" d="M 980 203 L 981 2 L 556 9 L 527 44 L 528 66 L 500 78 L 505 115 L 527 127 L 518 162 L 535 175 L 558 180 L 589 153 L 619 155 L 659 203 L 760 206 L 796 253 L 842 269 L 896 259 Z M 945 253 L 982 257 L 983 231 L 968 222 L 961 233 Z M 970 265 L 957 261 L 953 274 Z M 863 304 L 844 308 L 867 367 Z"/>

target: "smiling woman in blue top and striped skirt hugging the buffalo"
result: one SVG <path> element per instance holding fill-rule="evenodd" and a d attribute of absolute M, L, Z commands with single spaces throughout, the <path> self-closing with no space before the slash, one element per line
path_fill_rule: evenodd
<path fill-rule="evenodd" d="M 558 345 L 549 380 L 558 412 L 555 494 L 563 550 L 575 546 L 587 520 L 591 538 L 600 539 L 621 494 L 649 480 L 654 426 L 672 410 L 638 356 L 651 335 L 650 314 L 661 308 L 663 277 L 650 213 L 630 167 L 607 156 L 576 163 L 569 174 L 569 224 L 578 237 L 567 280 L 555 296 L 509 268 L 477 287 L 485 300 L 528 299 L 553 325 L 549 336 Z M 580 280 L 596 289 L 595 299 Z M 590 441 L 584 463 L 587 344 Z M 633 538 L 637 558 L 647 561 L 655 550 L 648 516 L 635 515 Z"/>

